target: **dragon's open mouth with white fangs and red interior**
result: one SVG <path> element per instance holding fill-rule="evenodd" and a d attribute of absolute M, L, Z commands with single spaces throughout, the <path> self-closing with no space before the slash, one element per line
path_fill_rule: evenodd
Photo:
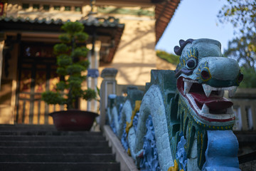
<path fill-rule="evenodd" d="M 200 120 L 220 123 L 235 120 L 233 103 L 227 98 L 223 98 L 223 95 L 224 90 L 228 90 L 230 96 L 234 95 L 236 86 L 214 88 L 180 77 L 177 81 L 177 88 L 196 111 Z"/>

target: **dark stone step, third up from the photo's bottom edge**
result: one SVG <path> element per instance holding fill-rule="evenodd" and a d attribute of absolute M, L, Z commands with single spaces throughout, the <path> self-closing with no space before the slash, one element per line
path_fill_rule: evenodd
<path fill-rule="evenodd" d="M 110 147 L 0 147 L 0 154 L 106 154 Z"/>

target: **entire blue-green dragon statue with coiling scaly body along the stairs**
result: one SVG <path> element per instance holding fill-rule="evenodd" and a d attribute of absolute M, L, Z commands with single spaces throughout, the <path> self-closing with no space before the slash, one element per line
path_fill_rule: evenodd
<path fill-rule="evenodd" d="M 230 96 L 242 81 L 220 42 L 181 40 L 176 71 L 151 71 L 146 91 L 109 95 L 107 118 L 140 170 L 240 170 Z"/>

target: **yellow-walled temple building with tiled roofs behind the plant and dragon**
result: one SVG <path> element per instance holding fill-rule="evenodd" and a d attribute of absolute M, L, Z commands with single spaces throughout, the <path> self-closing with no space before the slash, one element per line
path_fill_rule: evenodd
<path fill-rule="evenodd" d="M 67 21 L 81 22 L 89 34 L 87 58 L 96 76 L 83 86 L 100 87 L 97 76 L 103 68 L 117 68 L 119 84 L 149 82 L 157 63 L 154 47 L 179 2 L 0 1 L 0 123 L 53 123 L 48 113 L 61 106 L 47 105 L 41 93 L 53 90 L 58 81 L 53 45 Z M 81 100 L 80 108 L 97 110 L 96 101 Z"/>

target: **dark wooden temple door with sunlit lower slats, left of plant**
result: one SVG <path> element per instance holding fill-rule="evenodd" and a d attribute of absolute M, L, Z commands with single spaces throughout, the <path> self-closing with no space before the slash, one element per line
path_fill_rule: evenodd
<path fill-rule="evenodd" d="M 62 109 L 60 105 L 47 105 L 41 93 L 55 90 L 58 82 L 53 45 L 23 43 L 18 65 L 15 123 L 53 124 L 48 113 Z"/>

